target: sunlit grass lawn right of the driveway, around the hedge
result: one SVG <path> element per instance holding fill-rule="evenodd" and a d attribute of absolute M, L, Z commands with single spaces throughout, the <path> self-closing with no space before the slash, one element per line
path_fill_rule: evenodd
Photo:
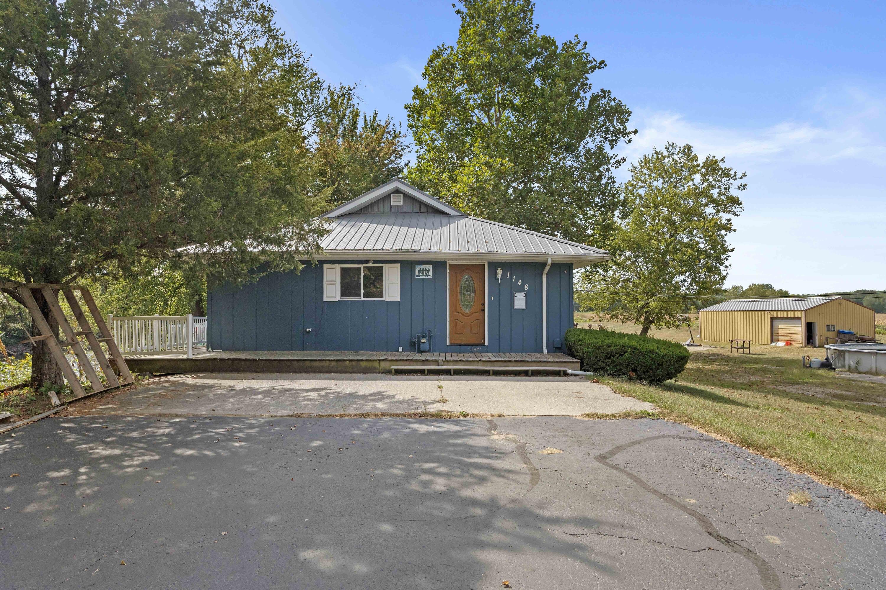
<path fill-rule="evenodd" d="M 577 313 L 576 321 L 587 321 L 584 315 Z M 688 329 L 653 329 L 649 335 L 686 341 Z M 702 343 L 718 348 L 693 350 L 676 381 L 655 387 L 600 380 L 619 394 L 656 404 L 662 418 L 773 457 L 886 512 L 886 383 L 801 366 L 800 356 L 824 358 L 824 349 L 754 346 L 750 355 L 738 355 L 728 344 Z"/>

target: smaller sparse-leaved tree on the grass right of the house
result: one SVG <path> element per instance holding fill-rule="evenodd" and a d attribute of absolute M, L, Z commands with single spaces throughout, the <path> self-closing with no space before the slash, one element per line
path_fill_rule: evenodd
<path fill-rule="evenodd" d="M 688 306 L 722 293 L 745 175 L 724 158 L 668 142 L 631 165 L 609 262 L 583 275 L 579 302 L 602 318 L 678 326 Z"/>

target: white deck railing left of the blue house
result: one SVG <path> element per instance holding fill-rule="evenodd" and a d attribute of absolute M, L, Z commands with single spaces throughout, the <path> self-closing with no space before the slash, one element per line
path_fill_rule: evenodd
<path fill-rule="evenodd" d="M 206 348 L 206 318 L 187 316 L 108 316 L 114 341 L 124 355 L 183 352 Z"/>

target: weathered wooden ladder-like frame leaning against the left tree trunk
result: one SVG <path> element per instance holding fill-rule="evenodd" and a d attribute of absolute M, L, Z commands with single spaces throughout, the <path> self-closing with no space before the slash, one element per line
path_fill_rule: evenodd
<path fill-rule="evenodd" d="M 68 384 L 71 386 L 71 391 L 74 392 L 74 399 L 90 394 L 87 394 L 83 389 L 80 383 L 80 378 L 77 376 L 77 373 L 74 372 L 74 367 L 68 362 L 64 350 L 66 348 L 70 348 L 74 352 L 74 355 L 80 362 L 83 372 L 86 373 L 86 378 L 89 379 L 89 384 L 92 386 L 91 394 L 105 391 L 105 389 L 113 389 L 113 387 L 128 385 L 133 382 L 134 379 L 132 378 L 132 373 L 129 372 L 126 361 L 123 359 L 123 355 L 120 354 L 120 349 L 117 347 L 117 343 L 113 340 L 113 334 L 108 329 L 107 324 L 105 324 L 105 319 L 102 318 L 101 311 L 98 310 L 96 301 L 92 298 L 92 294 L 89 293 L 87 287 L 54 285 L 48 283 L 0 283 L 0 288 L 13 290 L 18 293 L 21 301 L 30 312 L 31 318 L 34 318 L 34 326 L 36 326 L 39 333 L 31 334 L 26 330 L 27 338 L 21 342 L 30 342 L 32 345 L 35 345 L 39 341 L 46 341 L 52 354 L 52 358 L 61 368 L 62 373 L 65 375 L 65 379 L 67 379 Z M 46 303 L 49 304 L 51 314 L 56 321 L 58 321 L 58 327 L 65 336 L 64 341 L 58 341 L 55 333 L 53 333 L 53 330 L 50 327 L 50 323 L 47 321 L 47 318 L 43 316 L 43 311 L 40 310 L 40 306 L 37 304 L 34 294 L 32 293 L 35 289 L 40 291 L 41 295 L 43 295 L 43 298 L 46 300 Z M 80 326 L 80 330 L 74 330 L 70 322 L 68 322 L 64 310 L 62 310 L 61 305 L 58 303 L 58 291 L 65 294 L 65 299 L 67 300 L 68 306 L 71 308 L 71 312 L 74 314 L 74 318 L 77 320 L 78 326 Z M 89 309 L 89 315 L 92 316 L 93 322 L 98 329 L 98 333 L 92 329 L 92 326 L 89 324 L 89 318 L 83 313 L 80 302 L 77 301 L 77 297 L 74 295 L 74 292 L 76 291 L 80 292 L 83 302 L 86 303 L 86 307 Z M 86 342 L 89 344 L 89 349 L 91 349 L 92 354 L 96 356 L 98 366 L 101 367 L 102 372 L 105 373 L 105 381 L 107 382 L 107 385 L 105 385 L 102 379 L 98 377 L 96 370 L 92 367 L 92 363 L 89 361 L 89 356 L 86 354 L 86 348 L 83 346 L 83 342 L 79 339 L 79 336 L 84 336 L 86 338 Z M 102 342 L 105 342 L 105 346 L 107 346 L 108 352 L 111 354 L 113 362 L 117 367 L 117 372 L 113 371 L 111 363 L 108 362 L 105 351 L 101 347 Z M 52 405 L 57 406 L 61 403 L 58 401 L 58 396 L 55 395 L 55 392 L 50 391 L 48 393 Z"/>

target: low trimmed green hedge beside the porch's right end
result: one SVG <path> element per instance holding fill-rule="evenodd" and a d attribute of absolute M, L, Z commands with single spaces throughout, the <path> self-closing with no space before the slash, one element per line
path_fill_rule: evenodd
<path fill-rule="evenodd" d="M 582 371 L 649 383 L 675 378 L 689 360 L 689 351 L 677 342 L 610 330 L 566 330 L 566 349 L 581 361 Z"/>

